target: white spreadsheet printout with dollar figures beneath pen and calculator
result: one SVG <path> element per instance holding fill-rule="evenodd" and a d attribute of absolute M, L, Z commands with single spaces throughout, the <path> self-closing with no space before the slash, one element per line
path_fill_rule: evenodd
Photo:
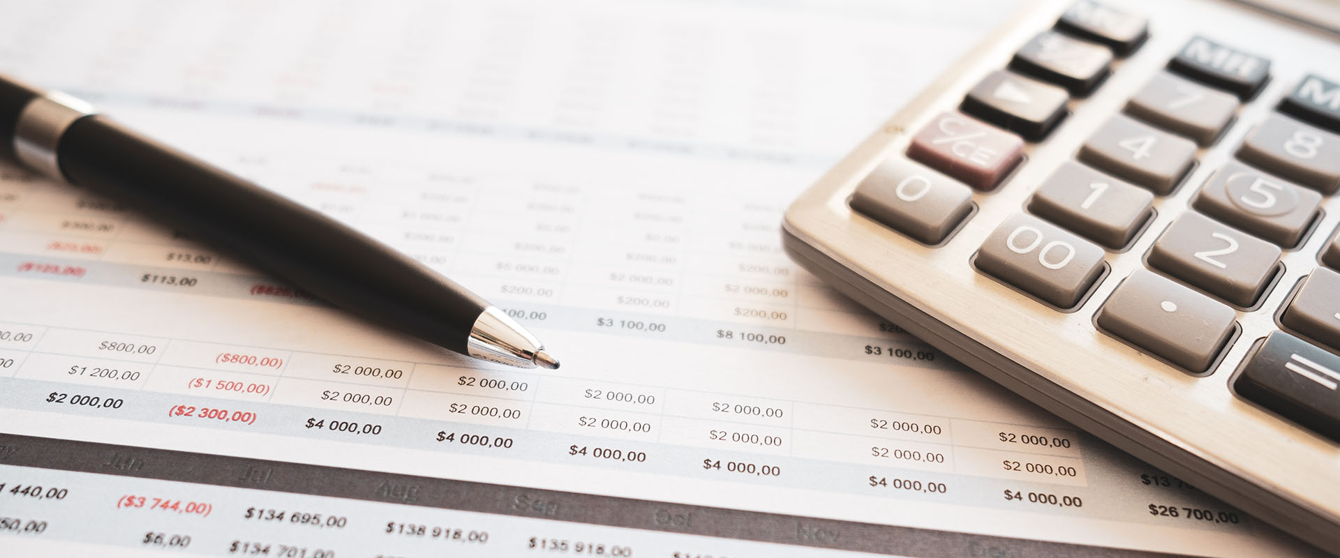
<path fill-rule="evenodd" d="M 792 197 L 1008 4 L 7 1 L 0 71 L 403 250 L 563 368 L 0 167 L 0 543 L 1309 555 L 781 252 Z"/>

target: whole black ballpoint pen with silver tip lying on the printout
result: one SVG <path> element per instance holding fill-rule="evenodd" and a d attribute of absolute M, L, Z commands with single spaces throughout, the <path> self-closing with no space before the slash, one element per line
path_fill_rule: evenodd
<path fill-rule="evenodd" d="M 505 312 L 418 261 L 70 95 L 0 76 L 0 158 L 127 201 L 381 325 L 476 359 L 559 367 Z"/>

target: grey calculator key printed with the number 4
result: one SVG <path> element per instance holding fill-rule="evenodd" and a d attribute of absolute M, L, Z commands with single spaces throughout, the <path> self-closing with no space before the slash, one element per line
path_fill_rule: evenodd
<path fill-rule="evenodd" d="M 1195 143 L 1119 114 L 1084 142 L 1080 161 L 1164 195 L 1195 162 Z"/>

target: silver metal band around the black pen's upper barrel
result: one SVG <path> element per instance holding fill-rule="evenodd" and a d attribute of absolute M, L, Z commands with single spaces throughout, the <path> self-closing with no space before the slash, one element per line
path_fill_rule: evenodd
<path fill-rule="evenodd" d="M 91 104 L 60 91 L 29 100 L 13 128 L 13 153 L 19 162 L 51 178 L 66 179 L 56 161 L 60 136 L 70 124 L 92 111 Z"/>

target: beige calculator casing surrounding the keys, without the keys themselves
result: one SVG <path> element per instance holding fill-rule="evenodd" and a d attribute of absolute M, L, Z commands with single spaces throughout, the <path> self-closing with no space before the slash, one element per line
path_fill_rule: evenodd
<path fill-rule="evenodd" d="M 1340 225 L 1340 197 L 1324 201 L 1316 230 L 1302 246 L 1285 253 L 1285 272 L 1261 309 L 1238 312 L 1237 341 L 1209 375 L 1171 368 L 1093 325 L 1093 314 L 1112 289 L 1143 266 L 1143 254 L 1159 231 L 1229 161 L 1244 134 L 1298 78 L 1340 68 L 1337 37 L 1223 1 L 1118 3 L 1150 17 L 1148 43 L 1120 60 L 1093 95 L 1072 100 L 1073 114 L 1047 142 L 1026 145 L 1028 161 L 1005 185 L 996 193 L 976 193 L 977 211 L 945 245 L 918 244 L 847 205 L 875 165 L 904 157 L 914 132 L 937 114 L 954 110 L 988 72 L 1006 67 L 1014 50 L 1052 27 L 1068 4 L 1026 3 L 805 190 L 787 211 L 785 248 L 839 292 L 992 380 L 1244 511 L 1340 553 L 1340 446 L 1237 397 L 1230 388 L 1252 341 L 1277 329 L 1277 309 Z M 986 236 L 1022 211 L 1036 186 L 1073 158 L 1083 141 L 1195 33 L 1272 59 L 1273 79 L 1241 108 L 1223 138 L 1199 151 L 1187 182 L 1155 201 L 1150 230 L 1127 250 L 1107 254 L 1108 274 L 1093 293 L 1077 310 L 1059 312 L 977 272 L 970 258 Z"/>

